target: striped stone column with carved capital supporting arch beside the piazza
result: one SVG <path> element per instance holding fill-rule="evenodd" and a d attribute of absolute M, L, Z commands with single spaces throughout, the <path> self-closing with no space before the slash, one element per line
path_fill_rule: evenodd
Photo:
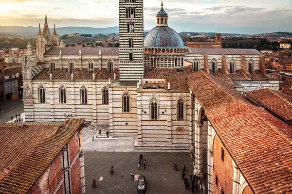
<path fill-rule="evenodd" d="M 195 133 L 195 161 L 196 167 L 194 174 L 199 175 L 200 178 L 203 178 L 203 138 L 202 138 L 202 122 L 196 122 L 196 133 Z"/>

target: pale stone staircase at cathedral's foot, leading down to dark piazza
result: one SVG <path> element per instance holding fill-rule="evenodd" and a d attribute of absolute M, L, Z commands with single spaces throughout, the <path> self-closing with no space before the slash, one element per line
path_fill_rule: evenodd
<path fill-rule="evenodd" d="M 101 134 L 99 135 L 99 129 Z M 109 127 L 107 126 L 89 126 L 82 129 L 82 144 L 84 151 L 100 152 L 134 152 L 135 137 L 111 136 L 106 135 Z M 94 140 L 92 141 L 92 135 Z"/>

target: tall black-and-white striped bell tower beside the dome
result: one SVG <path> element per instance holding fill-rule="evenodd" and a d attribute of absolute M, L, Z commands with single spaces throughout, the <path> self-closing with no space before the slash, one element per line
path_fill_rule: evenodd
<path fill-rule="evenodd" d="M 119 0 L 120 81 L 138 81 L 144 76 L 143 0 Z"/>

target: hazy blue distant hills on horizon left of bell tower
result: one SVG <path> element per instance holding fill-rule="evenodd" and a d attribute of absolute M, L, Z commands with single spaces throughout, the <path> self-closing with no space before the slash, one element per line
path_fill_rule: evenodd
<path fill-rule="evenodd" d="M 41 28 L 42 30 L 42 28 Z M 50 31 L 53 32 L 53 28 Z M 17 35 L 34 35 L 37 33 L 37 27 L 23 27 L 23 26 L 0 26 L 0 32 L 17 34 Z M 56 28 L 59 36 L 69 33 L 87 33 L 87 34 L 98 34 L 98 33 L 119 33 L 119 27 L 108 27 L 108 28 L 91 28 L 91 27 L 62 27 Z"/>

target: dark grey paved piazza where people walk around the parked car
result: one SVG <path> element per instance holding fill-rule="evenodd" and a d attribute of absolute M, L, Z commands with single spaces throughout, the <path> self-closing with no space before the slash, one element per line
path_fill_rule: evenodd
<path fill-rule="evenodd" d="M 182 178 L 183 164 L 188 181 L 193 173 L 192 158 L 189 152 L 146 152 L 146 169 L 138 170 L 140 152 L 85 152 L 85 181 L 87 194 L 137 194 L 137 181 L 130 178 L 144 175 L 147 194 L 191 194 L 185 190 Z M 178 171 L 172 169 L 173 162 L 178 165 Z M 114 175 L 110 175 L 110 167 L 114 166 Z M 103 180 L 99 181 L 100 177 Z M 92 180 L 96 180 L 97 188 L 92 188 Z M 199 188 L 198 188 L 198 191 Z M 195 193 L 201 194 L 201 192 Z"/>

